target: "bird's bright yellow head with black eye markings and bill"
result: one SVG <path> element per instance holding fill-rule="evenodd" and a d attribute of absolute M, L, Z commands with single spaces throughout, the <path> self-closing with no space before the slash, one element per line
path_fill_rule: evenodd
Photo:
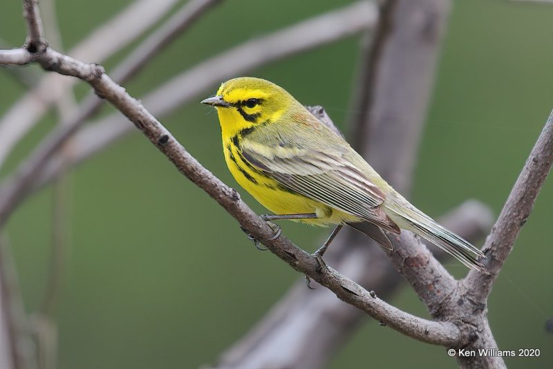
<path fill-rule="evenodd" d="M 265 79 L 240 77 L 221 84 L 217 95 L 203 101 L 217 109 L 223 137 L 256 124 L 270 124 L 290 108 L 294 98 Z"/>

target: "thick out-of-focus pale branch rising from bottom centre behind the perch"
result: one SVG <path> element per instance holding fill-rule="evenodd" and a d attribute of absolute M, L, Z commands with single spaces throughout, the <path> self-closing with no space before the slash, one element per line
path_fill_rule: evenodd
<path fill-rule="evenodd" d="M 475 200 L 464 202 L 439 220 L 473 241 L 485 236 L 492 223 L 491 211 Z M 380 298 L 390 299 L 404 279 L 377 245 L 366 243 L 348 244 L 346 257 L 339 261 L 336 249 L 330 248 L 328 252 L 335 251 L 332 265 L 377 291 Z M 302 280 L 250 332 L 223 352 L 215 366 L 263 368 L 270 363 L 274 368 L 324 368 L 365 318 L 361 310 L 335 299 L 326 289 L 306 291 Z"/>

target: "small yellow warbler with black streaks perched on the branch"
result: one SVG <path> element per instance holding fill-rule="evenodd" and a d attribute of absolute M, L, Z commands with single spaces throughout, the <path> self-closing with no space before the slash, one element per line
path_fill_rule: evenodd
<path fill-rule="evenodd" d="M 261 78 L 237 77 L 201 103 L 216 108 L 230 173 L 274 213 L 264 220 L 335 226 L 314 253 L 319 264 L 346 225 L 388 250 L 393 249 L 390 235 L 405 229 L 467 267 L 484 270 L 480 249 L 411 205 L 284 88 Z"/>

